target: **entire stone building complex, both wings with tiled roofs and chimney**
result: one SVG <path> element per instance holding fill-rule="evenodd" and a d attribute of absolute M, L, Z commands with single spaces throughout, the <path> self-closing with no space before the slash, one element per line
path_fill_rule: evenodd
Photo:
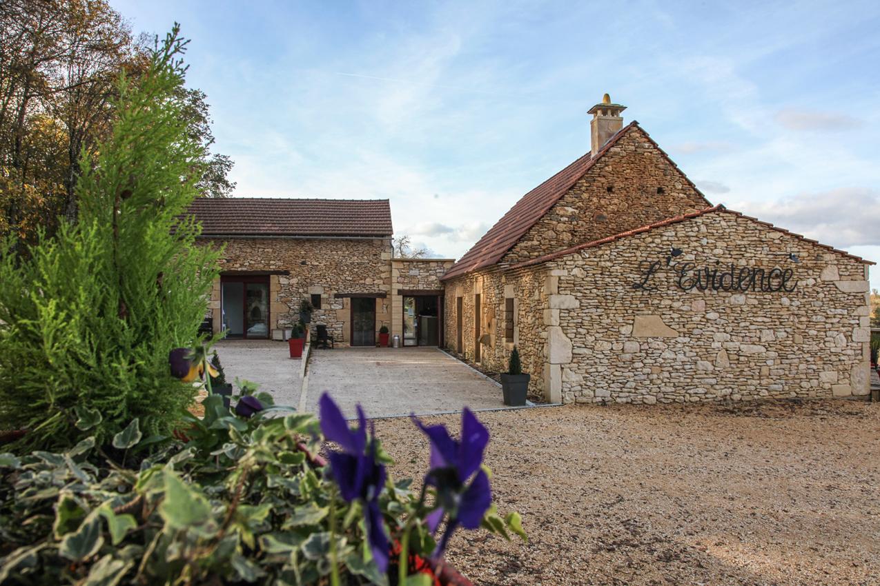
<path fill-rule="evenodd" d="M 873 263 L 713 206 L 625 109 L 606 94 L 590 151 L 454 264 L 392 258 L 387 200 L 196 201 L 214 329 L 268 337 L 312 300 L 342 344 L 387 325 L 499 372 L 516 345 L 550 402 L 869 394 Z"/>

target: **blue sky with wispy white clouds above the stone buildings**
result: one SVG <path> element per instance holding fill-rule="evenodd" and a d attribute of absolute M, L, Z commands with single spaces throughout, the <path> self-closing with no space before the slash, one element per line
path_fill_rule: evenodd
<path fill-rule="evenodd" d="M 192 39 L 238 196 L 391 199 L 460 257 L 607 91 L 713 203 L 880 260 L 876 1 L 111 4 Z"/>

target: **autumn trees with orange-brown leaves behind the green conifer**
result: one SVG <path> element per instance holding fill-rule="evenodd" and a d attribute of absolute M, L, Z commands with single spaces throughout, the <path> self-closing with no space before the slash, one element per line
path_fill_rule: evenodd
<path fill-rule="evenodd" d="M 79 159 L 96 154 L 117 117 L 117 81 L 137 83 L 150 42 L 106 0 L 0 2 L 0 234 L 33 242 L 77 216 Z M 182 115 L 205 155 L 195 162 L 200 192 L 228 195 L 228 157 L 212 155 L 208 105 L 180 89 Z"/>

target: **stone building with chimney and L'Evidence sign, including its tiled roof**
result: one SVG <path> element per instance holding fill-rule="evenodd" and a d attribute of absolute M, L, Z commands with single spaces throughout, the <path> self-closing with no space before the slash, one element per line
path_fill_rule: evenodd
<path fill-rule="evenodd" d="M 868 394 L 872 263 L 712 206 L 624 109 L 444 274 L 446 346 L 552 402 Z"/>

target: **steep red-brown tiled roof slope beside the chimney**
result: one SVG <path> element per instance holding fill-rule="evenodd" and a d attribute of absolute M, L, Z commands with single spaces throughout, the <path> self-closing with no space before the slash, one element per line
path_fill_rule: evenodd
<path fill-rule="evenodd" d="M 587 153 L 544 183 L 539 184 L 531 192 L 526 193 L 510 208 L 508 213 L 502 216 L 501 220 L 495 223 L 495 226 L 489 228 L 489 231 L 471 247 L 471 250 L 465 253 L 464 257 L 458 260 L 458 263 L 453 264 L 452 268 L 446 271 L 441 280 L 451 279 L 501 260 L 504 254 L 529 231 L 529 228 L 532 228 L 545 213 L 549 212 L 550 208 L 571 189 L 578 179 L 583 177 L 584 173 L 590 170 L 590 167 L 601 156 L 614 146 L 621 136 L 627 134 L 630 128 L 638 126 L 639 123 L 633 120 L 614 134 L 611 140 L 606 142 L 605 146 L 596 153 L 596 156 L 590 156 L 590 153 Z M 678 167 L 664 153 L 663 149 L 657 146 L 656 142 L 650 137 L 648 139 L 673 167 Z M 696 185 L 691 183 L 689 179 L 686 180 L 696 192 L 700 193 Z M 708 201 L 706 203 L 708 204 Z"/>

